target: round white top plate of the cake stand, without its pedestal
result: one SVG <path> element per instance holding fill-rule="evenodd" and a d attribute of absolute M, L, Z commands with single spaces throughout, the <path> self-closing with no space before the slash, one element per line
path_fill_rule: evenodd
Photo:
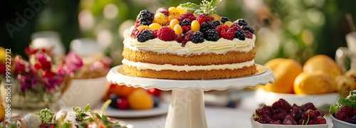
<path fill-rule="evenodd" d="M 271 69 L 264 65 L 257 65 L 258 73 L 241 78 L 211 79 L 211 80 L 165 80 L 153 78 L 138 78 L 125 75 L 122 65 L 111 68 L 106 78 L 108 81 L 118 85 L 133 87 L 158 88 L 159 90 L 226 90 L 229 88 L 242 89 L 245 87 L 256 87 L 256 85 L 266 85 L 273 83 L 275 77 Z"/>

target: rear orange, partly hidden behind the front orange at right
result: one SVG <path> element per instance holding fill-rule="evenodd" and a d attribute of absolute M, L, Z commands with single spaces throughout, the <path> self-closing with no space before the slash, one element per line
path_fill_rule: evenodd
<path fill-rule="evenodd" d="M 303 71 L 306 73 L 318 70 L 328 73 L 333 78 L 342 74 L 335 61 L 327 55 L 314 55 L 303 65 Z"/>

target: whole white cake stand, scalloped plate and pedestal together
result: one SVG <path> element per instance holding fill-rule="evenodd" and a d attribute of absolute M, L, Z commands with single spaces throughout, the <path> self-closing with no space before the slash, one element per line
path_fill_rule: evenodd
<path fill-rule="evenodd" d="M 242 89 L 274 82 L 275 77 L 269 68 L 257 65 L 258 72 L 243 78 L 214 80 L 164 80 L 137 78 L 123 74 L 122 65 L 111 68 L 107 78 L 118 85 L 156 87 L 160 90 L 172 90 L 165 128 L 206 128 L 204 91 Z"/>

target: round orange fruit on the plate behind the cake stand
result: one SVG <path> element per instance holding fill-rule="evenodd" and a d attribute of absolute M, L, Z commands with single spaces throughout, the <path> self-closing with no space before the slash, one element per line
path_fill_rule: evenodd
<path fill-rule="evenodd" d="M 147 110 L 154 105 L 152 96 L 146 90 L 135 90 L 128 97 L 130 107 L 133 110 Z"/>

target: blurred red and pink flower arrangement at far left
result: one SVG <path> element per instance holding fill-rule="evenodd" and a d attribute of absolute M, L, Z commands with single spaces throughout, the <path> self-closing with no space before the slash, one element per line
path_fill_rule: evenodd
<path fill-rule="evenodd" d="M 61 95 L 66 80 L 73 78 L 75 72 L 83 66 L 83 60 L 74 52 L 69 52 L 60 62 L 54 61 L 51 49 L 35 49 L 30 46 L 25 52 L 28 60 L 16 55 L 10 66 L 13 107 L 48 107 Z M 1 75 L 5 75 L 4 67 L 4 63 L 0 63 Z"/>

